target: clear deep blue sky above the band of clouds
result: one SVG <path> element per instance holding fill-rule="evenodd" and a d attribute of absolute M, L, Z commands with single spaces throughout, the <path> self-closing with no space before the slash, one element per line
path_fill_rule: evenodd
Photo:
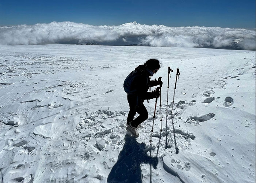
<path fill-rule="evenodd" d="M 1 25 L 70 21 L 255 28 L 255 0 L 1 0 Z"/>

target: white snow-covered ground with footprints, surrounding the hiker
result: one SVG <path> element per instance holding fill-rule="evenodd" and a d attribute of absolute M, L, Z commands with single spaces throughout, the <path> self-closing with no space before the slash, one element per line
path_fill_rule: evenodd
<path fill-rule="evenodd" d="M 155 100 L 135 139 L 123 90 L 150 58 L 164 83 L 151 144 Z M 2 183 L 255 182 L 255 51 L 1 46 L 0 93 Z"/>

